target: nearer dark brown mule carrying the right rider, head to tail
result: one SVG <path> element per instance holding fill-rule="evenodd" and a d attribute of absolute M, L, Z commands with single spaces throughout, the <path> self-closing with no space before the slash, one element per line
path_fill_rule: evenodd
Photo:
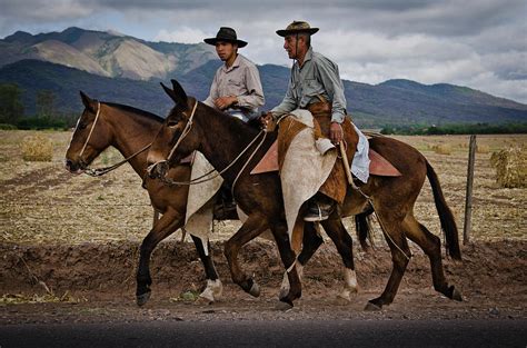
<path fill-rule="evenodd" d="M 150 148 L 148 161 L 157 163 L 152 168 L 152 176 L 165 175 L 172 163 L 193 150 L 201 151 L 218 170 L 226 168 L 232 162 L 235 156 L 247 147 L 250 139 L 257 136 L 258 131 L 249 126 L 228 118 L 223 113 L 199 103 L 193 98 L 188 98 L 177 81 L 172 80 L 172 87 L 173 90 L 170 90 L 163 86 L 166 92 L 176 102 L 176 107 L 170 111 Z M 233 193 L 241 209 L 249 215 L 249 223 L 245 223 L 226 243 L 225 250 L 229 266 L 231 266 L 232 279 L 243 289 L 250 287 L 252 279 L 241 272 L 236 259 L 237 252 L 243 243 L 258 236 L 266 226 L 271 226 L 274 230 L 286 268 L 294 265 L 294 255 L 291 255 L 289 246 L 285 245 L 288 242 L 288 236 L 284 233 L 286 227 L 282 220 L 284 207 L 278 176 L 276 173 L 249 175 L 250 169 L 258 162 L 275 138 L 276 135 L 268 137 L 247 166 L 242 167 L 249 160 L 248 155 L 242 156 L 240 163 L 230 167 L 222 175 L 225 180 L 230 183 L 237 178 Z M 384 305 L 392 302 L 410 258 L 406 237 L 416 242 L 429 257 L 435 289 L 450 299 L 461 300 L 461 295 L 457 289 L 454 286 L 448 286 L 446 281 L 441 262 L 440 239 L 430 233 L 414 217 L 415 201 L 425 178 L 428 177 L 441 229 L 446 235 L 448 251 L 453 258 L 461 258 L 454 216 L 445 201 L 432 167 L 419 151 L 390 138 L 372 138 L 370 147 L 394 163 L 402 176 L 371 176 L 359 190 L 351 188 L 348 190 L 346 201 L 341 207 L 341 216 L 364 213 L 375 209 L 391 250 L 394 268 L 385 291 L 380 297 L 368 301 L 366 308 L 380 309 Z M 327 222 L 325 226 L 326 231 L 328 233 L 340 231 L 335 238 L 341 238 L 344 241 L 347 232 L 340 219 L 332 217 L 327 221 L 329 223 Z M 294 274 L 291 277 L 291 274 L 289 274 L 289 281 L 291 278 L 298 281 L 296 275 Z M 292 300 L 299 296 L 300 284 L 291 284 L 287 299 Z"/>

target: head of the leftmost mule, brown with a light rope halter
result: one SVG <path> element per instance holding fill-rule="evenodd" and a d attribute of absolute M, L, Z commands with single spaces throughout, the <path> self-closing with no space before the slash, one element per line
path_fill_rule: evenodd
<path fill-rule="evenodd" d="M 73 173 L 83 172 L 111 141 L 111 133 L 102 120 L 102 105 L 82 91 L 80 97 L 84 111 L 77 121 L 64 160 L 66 169 Z"/>

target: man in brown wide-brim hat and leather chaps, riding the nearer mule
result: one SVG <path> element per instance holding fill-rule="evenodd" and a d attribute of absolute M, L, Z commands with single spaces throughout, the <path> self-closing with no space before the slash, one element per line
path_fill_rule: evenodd
<path fill-rule="evenodd" d="M 272 116 L 277 119 L 296 109 L 309 110 L 320 126 L 322 136 L 334 145 L 345 141 L 346 152 L 351 160 L 357 147 L 356 128 L 347 117 L 338 66 L 311 48 L 311 36 L 318 30 L 306 21 L 294 21 L 286 29 L 277 30 L 284 37 L 284 48 L 295 62 L 286 97 L 270 111 L 268 118 Z M 337 159 L 329 177 L 308 200 L 308 211 L 304 217 L 306 221 L 325 220 L 332 213 L 336 203 L 344 202 L 348 186 L 345 170 L 342 161 Z M 368 173 L 359 173 L 358 177 L 366 182 Z"/>

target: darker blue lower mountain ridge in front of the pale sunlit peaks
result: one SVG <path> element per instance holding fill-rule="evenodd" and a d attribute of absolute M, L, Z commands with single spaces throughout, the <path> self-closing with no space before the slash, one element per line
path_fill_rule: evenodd
<path fill-rule="evenodd" d="M 187 73 L 173 73 L 189 96 L 202 100 L 210 89 L 213 73 L 221 62 L 209 61 Z M 285 95 L 289 68 L 266 64 L 258 67 L 268 110 L 278 105 Z M 79 90 L 92 98 L 121 102 L 165 116 L 171 100 L 157 81 L 108 78 L 61 64 L 38 60 L 22 60 L 0 69 L 0 83 L 17 83 L 23 89 L 23 103 L 28 115 L 34 112 L 39 90 L 56 93 L 57 107 L 81 111 Z M 163 80 L 170 86 L 169 79 Z M 380 84 L 344 81 L 348 112 L 361 127 L 404 123 L 451 122 L 511 122 L 527 121 L 527 106 L 511 100 L 454 84 L 426 86 L 408 80 L 389 80 Z"/>

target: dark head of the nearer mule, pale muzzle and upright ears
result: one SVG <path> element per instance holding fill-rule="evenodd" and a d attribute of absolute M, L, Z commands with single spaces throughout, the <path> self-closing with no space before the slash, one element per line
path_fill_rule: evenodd
<path fill-rule="evenodd" d="M 171 81 L 173 89 L 166 87 L 163 83 L 161 86 L 176 106 L 165 119 L 148 152 L 151 177 L 163 176 L 170 167 L 176 166 L 182 158 L 198 150 L 200 139 L 202 139 L 201 129 L 192 127 L 198 101 L 188 98 L 178 81 Z"/>

